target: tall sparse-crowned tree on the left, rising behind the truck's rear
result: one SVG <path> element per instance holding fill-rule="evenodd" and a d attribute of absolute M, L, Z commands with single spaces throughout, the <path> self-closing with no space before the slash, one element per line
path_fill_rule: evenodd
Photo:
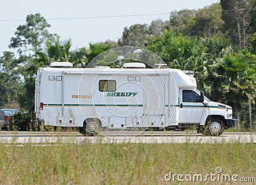
<path fill-rule="evenodd" d="M 51 41 L 56 34 L 50 34 L 47 30 L 50 25 L 39 13 L 26 17 L 26 24 L 17 27 L 15 37 L 11 38 L 10 48 L 17 48 L 20 54 L 18 59 L 19 74 L 23 75 L 24 88 L 19 92 L 20 106 L 33 111 L 35 79 L 33 75 L 39 66 L 38 54 L 42 52 L 46 41 Z"/>

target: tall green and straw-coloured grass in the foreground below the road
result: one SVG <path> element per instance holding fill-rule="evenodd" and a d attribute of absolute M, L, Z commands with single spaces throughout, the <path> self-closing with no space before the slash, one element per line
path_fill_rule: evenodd
<path fill-rule="evenodd" d="M 255 182 L 255 144 L 0 144 L 0 184 L 179 184 L 165 175 L 205 178 L 218 166 Z"/>

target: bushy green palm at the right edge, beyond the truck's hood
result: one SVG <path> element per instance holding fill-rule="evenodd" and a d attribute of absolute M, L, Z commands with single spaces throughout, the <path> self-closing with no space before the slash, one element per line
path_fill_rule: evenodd
<path fill-rule="evenodd" d="M 229 54 L 219 61 L 216 70 L 216 100 L 223 100 L 234 107 L 234 115 L 241 110 L 241 104 L 248 101 L 248 94 L 255 96 L 255 61 L 244 54 Z M 218 93 L 221 92 L 221 93 Z"/>

